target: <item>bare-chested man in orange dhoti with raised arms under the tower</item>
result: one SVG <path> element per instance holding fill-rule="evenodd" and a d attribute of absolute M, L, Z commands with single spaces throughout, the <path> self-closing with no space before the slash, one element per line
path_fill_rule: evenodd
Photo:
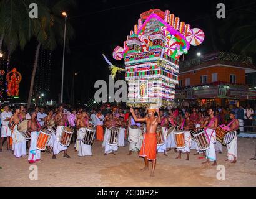
<path fill-rule="evenodd" d="M 157 117 L 154 116 L 155 111 L 157 112 Z M 136 122 L 145 122 L 147 133 L 144 134 L 144 140 L 142 143 L 142 147 L 140 149 L 140 157 L 144 157 L 145 167 L 142 170 L 149 170 L 149 160 L 152 161 L 152 170 L 151 177 L 154 177 L 155 174 L 155 165 L 157 163 L 157 126 L 161 123 L 161 118 L 159 114 L 159 109 L 148 109 L 148 117 L 145 118 L 137 118 L 134 113 L 134 109 L 130 108 L 130 113 Z"/>

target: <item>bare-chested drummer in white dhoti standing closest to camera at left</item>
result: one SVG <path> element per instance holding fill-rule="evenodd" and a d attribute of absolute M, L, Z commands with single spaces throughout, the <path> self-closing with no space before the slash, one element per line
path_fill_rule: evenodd
<path fill-rule="evenodd" d="M 34 164 L 41 160 L 41 150 L 36 149 L 36 142 L 41 130 L 41 125 L 36 119 L 36 111 L 34 109 L 29 110 L 31 119 L 27 123 L 27 131 L 31 132 L 31 141 L 29 147 L 29 164 Z"/>

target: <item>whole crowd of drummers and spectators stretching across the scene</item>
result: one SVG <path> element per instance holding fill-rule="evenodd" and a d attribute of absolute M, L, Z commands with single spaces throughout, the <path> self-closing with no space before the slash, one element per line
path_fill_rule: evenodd
<path fill-rule="evenodd" d="M 247 109 L 240 106 L 230 110 L 219 106 L 216 109 L 177 107 L 159 110 L 121 108 L 107 104 L 97 109 L 75 109 L 60 105 L 57 108 L 36 107 L 27 110 L 24 106 L 15 106 L 12 109 L 4 106 L 1 112 L 0 152 L 6 139 L 7 151 L 12 151 L 15 157 L 21 157 L 27 155 L 29 149 L 28 161 L 35 163 L 41 160 L 41 150 L 37 149 L 39 132 L 49 129 L 51 136 L 46 152 L 52 153 L 52 159 L 57 159 L 56 155 L 61 151 L 64 152 L 63 157 L 70 158 L 67 154 L 68 146 L 60 144 L 65 127 L 69 127 L 73 132 L 70 142 L 74 143 L 74 149 L 79 156 L 92 155 L 94 140 L 102 142 L 104 155 L 116 155 L 118 147 L 129 145 L 128 155 L 136 152 L 144 157 L 143 170 L 148 170 L 148 161 L 152 161 L 152 176 L 157 154 L 163 153 L 167 156 L 167 152 L 172 149 L 177 152 L 175 159 L 181 159 L 182 154 L 186 154 L 185 160 L 189 160 L 190 149 L 195 149 L 197 152 L 194 155 L 205 156 L 206 161 L 203 163 L 212 162 L 212 165 L 217 165 L 216 152 L 222 153 L 223 143 L 217 139 L 216 131 L 221 125 L 234 134 L 232 141 L 227 144 L 227 161 L 235 163 L 240 120 L 245 124 L 245 131 L 253 131 L 256 115 L 256 110 L 249 106 Z M 19 124 L 24 120 L 27 121 L 27 132 L 31 134 L 29 139 L 19 132 Z M 50 128 L 50 123 L 56 127 L 55 131 Z M 200 143 L 194 139 L 194 135 L 202 132 L 202 129 L 209 142 L 206 150 L 202 150 Z M 178 134 L 184 136 L 182 147 L 177 143 Z"/>

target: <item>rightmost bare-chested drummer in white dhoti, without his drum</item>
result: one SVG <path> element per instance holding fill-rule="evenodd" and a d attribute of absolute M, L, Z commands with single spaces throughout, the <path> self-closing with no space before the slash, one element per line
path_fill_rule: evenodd
<path fill-rule="evenodd" d="M 231 163 L 237 162 L 237 129 L 239 129 L 239 121 L 235 119 L 235 112 L 230 111 L 229 117 L 231 122 L 228 124 L 227 127 L 230 128 L 230 131 L 235 132 L 235 137 L 232 141 L 227 144 L 227 159 L 226 161 L 230 161 Z"/>

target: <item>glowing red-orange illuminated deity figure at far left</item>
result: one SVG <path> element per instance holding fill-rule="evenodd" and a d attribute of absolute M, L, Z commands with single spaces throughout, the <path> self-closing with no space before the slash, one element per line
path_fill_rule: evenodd
<path fill-rule="evenodd" d="M 16 68 L 13 68 L 6 74 L 7 96 L 19 96 L 19 83 L 21 79 L 21 73 L 17 72 Z"/>

